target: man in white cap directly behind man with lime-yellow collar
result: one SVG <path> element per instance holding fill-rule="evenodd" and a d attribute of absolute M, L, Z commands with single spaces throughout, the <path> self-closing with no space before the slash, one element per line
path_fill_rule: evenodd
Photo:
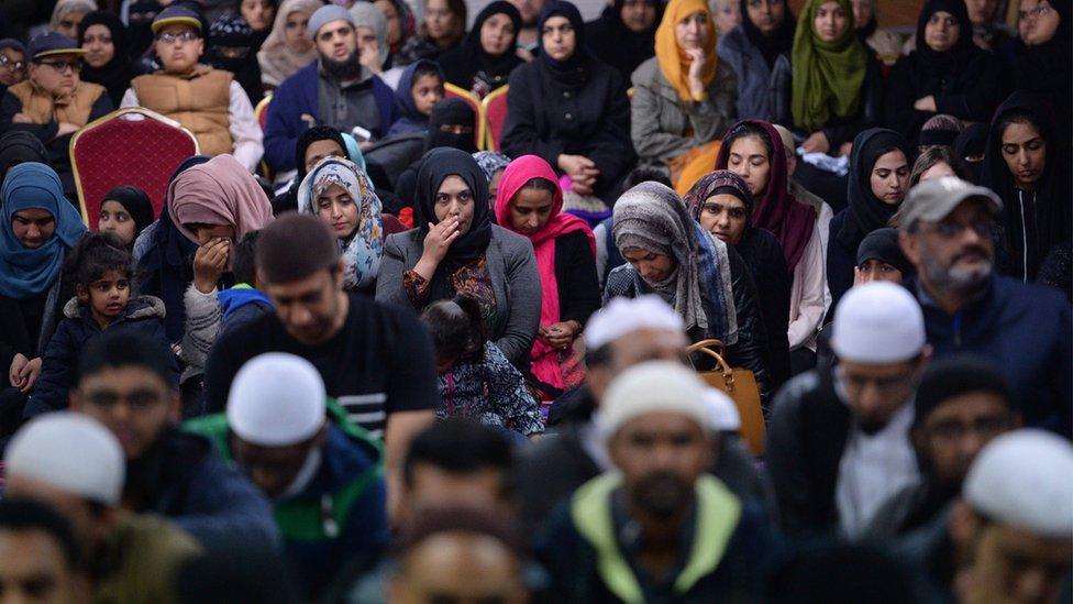
<path fill-rule="evenodd" d="M 611 469 L 607 447 L 591 420 L 608 384 L 638 363 L 653 360 L 686 364 L 688 344 L 682 317 L 659 296 L 615 298 L 585 327 L 585 384 L 552 406 L 557 430 L 522 452 L 516 481 L 522 517 L 540 523 L 555 505 L 586 481 Z M 741 495 L 773 508 L 771 488 L 750 453 L 733 435 L 714 439 L 712 473 Z"/>

